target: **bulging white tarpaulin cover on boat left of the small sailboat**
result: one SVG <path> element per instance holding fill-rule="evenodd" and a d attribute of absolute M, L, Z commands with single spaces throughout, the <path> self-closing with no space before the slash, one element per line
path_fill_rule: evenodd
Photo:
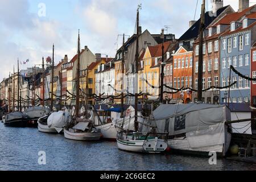
<path fill-rule="evenodd" d="M 60 132 L 65 124 L 69 121 L 69 118 L 69 113 L 65 113 L 64 111 L 55 112 L 49 115 L 47 125 L 48 127 L 55 127 L 55 129 Z"/>

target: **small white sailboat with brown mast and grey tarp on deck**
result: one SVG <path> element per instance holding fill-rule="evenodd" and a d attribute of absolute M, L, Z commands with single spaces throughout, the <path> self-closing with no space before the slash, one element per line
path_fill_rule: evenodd
<path fill-rule="evenodd" d="M 72 140 L 100 140 L 101 131 L 94 127 L 92 115 L 88 117 L 85 112 L 85 117 L 79 114 L 80 102 L 80 33 L 78 36 L 78 50 L 77 50 L 77 75 L 76 75 L 76 113 L 72 121 L 64 128 L 64 137 Z M 86 118 L 87 117 L 87 118 Z"/>

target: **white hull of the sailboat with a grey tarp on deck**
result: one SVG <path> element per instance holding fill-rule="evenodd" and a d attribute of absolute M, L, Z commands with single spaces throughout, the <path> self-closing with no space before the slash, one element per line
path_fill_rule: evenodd
<path fill-rule="evenodd" d="M 93 141 L 100 140 L 101 133 L 73 133 L 64 129 L 64 137 L 71 140 L 80 140 L 80 141 Z"/>

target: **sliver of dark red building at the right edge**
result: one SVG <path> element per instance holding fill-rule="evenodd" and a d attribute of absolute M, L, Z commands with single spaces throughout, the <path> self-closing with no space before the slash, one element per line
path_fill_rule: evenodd
<path fill-rule="evenodd" d="M 256 42 L 251 47 L 251 78 L 256 78 Z M 251 106 L 256 107 L 256 81 L 251 81 Z"/>

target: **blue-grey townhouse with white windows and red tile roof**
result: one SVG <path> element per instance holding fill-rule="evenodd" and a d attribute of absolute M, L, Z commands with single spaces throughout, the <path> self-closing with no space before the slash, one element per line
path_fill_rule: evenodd
<path fill-rule="evenodd" d="M 229 89 L 221 90 L 221 102 L 228 102 L 228 98 L 230 98 L 229 102 L 250 103 L 250 81 L 230 71 L 230 65 L 233 65 L 242 75 L 251 75 L 250 53 L 251 47 L 256 40 L 256 5 L 248 6 L 249 2 L 247 3 L 247 8 L 243 7 L 243 10 L 238 12 L 242 14 L 241 18 L 232 20 L 224 34 L 220 36 L 220 60 L 222 62 L 220 72 L 221 86 L 229 85 L 230 74 L 230 83 L 237 81 L 237 84 L 230 88 L 230 95 L 228 94 Z M 220 24 L 219 28 L 226 26 Z"/>

